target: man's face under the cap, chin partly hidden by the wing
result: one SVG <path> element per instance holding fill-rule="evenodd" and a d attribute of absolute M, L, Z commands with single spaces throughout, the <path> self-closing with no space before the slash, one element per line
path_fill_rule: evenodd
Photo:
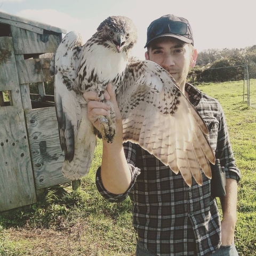
<path fill-rule="evenodd" d="M 195 66 L 197 53 L 188 44 L 173 37 L 161 37 L 150 44 L 145 56 L 167 70 L 180 85 L 182 91 L 189 71 Z"/>

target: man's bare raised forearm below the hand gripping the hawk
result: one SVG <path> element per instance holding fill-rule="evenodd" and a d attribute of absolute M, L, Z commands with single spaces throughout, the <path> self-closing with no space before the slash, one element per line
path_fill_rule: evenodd
<path fill-rule="evenodd" d="M 123 194 L 131 185 L 131 172 L 122 144 L 122 124 L 116 123 L 116 134 L 113 143 L 103 141 L 101 180 L 110 193 Z"/>

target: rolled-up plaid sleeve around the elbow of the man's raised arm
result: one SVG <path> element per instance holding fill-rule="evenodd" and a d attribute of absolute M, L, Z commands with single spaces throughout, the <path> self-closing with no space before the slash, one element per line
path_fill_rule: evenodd
<path fill-rule="evenodd" d="M 116 195 L 116 194 L 110 193 L 108 190 L 105 189 L 105 187 L 103 186 L 102 180 L 101 180 L 101 174 L 100 174 L 101 166 L 98 168 L 97 173 L 96 173 L 95 182 L 96 182 L 97 189 L 98 189 L 99 193 L 107 201 L 109 201 L 111 203 L 119 203 L 119 202 L 124 201 L 124 199 L 129 195 L 130 191 L 132 190 L 134 183 L 137 179 L 137 176 L 140 174 L 140 169 L 135 167 L 135 158 L 136 158 L 135 145 L 132 144 L 131 142 L 125 142 L 125 143 L 123 143 L 123 147 L 124 147 L 125 157 L 127 159 L 127 163 L 129 165 L 129 169 L 131 172 L 131 177 L 132 177 L 131 185 L 125 191 L 125 193 Z"/>

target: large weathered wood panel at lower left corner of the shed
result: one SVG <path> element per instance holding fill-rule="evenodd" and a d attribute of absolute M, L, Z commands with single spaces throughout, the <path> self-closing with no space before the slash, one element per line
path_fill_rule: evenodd
<path fill-rule="evenodd" d="M 0 211 L 36 202 L 23 112 L 0 108 Z"/>

